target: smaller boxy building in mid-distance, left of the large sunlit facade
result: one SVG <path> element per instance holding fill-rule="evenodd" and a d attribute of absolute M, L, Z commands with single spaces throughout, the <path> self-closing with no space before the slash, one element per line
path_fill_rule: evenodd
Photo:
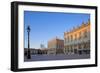
<path fill-rule="evenodd" d="M 61 54 L 64 49 L 64 40 L 54 38 L 48 41 L 48 54 Z"/>

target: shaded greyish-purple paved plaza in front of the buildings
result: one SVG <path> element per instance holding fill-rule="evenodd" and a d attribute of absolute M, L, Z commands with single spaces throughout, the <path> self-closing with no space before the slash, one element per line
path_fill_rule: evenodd
<path fill-rule="evenodd" d="M 65 55 L 65 54 L 58 54 L 58 55 L 31 55 L 31 59 L 27 59 L 24 57 L 25 62 L 30 61 L 50 61 L 50 60 L 73 60 L 73 59 L 89 59 L 90 54 L 72 54 L 72 55 Z"/>

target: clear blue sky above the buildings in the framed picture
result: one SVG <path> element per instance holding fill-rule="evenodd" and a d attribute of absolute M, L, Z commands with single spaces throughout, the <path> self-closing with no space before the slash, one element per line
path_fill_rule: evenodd
<path fill-rule="evenodd" d="M 47 47 L 55 37 L 64 39 L 64 32 L 86 23 L 90 14 L 24 11 L 24 47 L 27 48 L 27 26 L 30 25 L 30 47 Z"/>

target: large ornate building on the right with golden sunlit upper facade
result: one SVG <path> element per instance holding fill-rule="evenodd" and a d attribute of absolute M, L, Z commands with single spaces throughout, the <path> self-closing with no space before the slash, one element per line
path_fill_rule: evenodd
<path fill-rule="evenodd" d="M 89 54 L 90 53 L 90 20 L 81 26 L 64 32 L 65 54 Z"/>

